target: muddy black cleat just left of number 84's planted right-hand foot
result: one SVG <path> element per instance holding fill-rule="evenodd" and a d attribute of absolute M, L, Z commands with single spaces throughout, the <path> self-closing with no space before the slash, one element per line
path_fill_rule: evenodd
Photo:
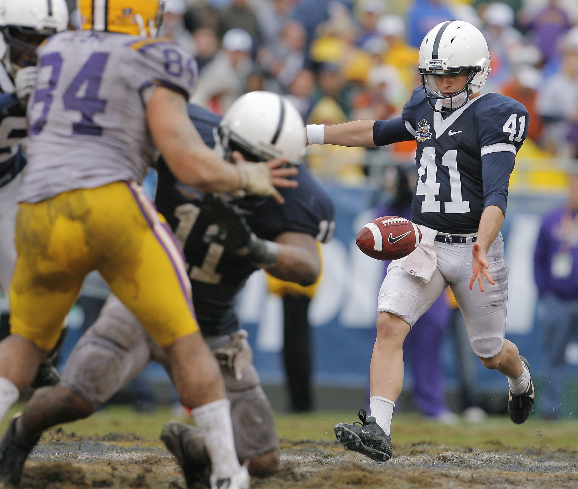
<path fill-rule="evenodd" d="M 199 428 L 181 421 L 169 421 L 162 428 L 161 440 L 183 469 L 187 487 L 211 487 L 211 462 Z"/>

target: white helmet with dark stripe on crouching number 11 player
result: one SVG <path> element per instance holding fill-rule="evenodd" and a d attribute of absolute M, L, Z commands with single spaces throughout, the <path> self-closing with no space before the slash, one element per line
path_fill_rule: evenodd
<path fill-rule="evenodd" d="M 295 106 L 272 92 L 250 92 L 229 107 L 215 132 L 215 150 L 232 161 L 233 151 L 266 161 L 287 158 L 301 164 L 305 154 L 305 124 Z"/>

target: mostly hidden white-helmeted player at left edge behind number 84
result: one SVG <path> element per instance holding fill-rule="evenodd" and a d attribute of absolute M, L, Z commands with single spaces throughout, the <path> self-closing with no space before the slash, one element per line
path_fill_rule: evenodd
<path fill-rule="evenodd" d="M 67 25 L 68 8 L 64 0 L 0 1 L 0 286 L 6 293 L 16 262 L 16 196 L 26 165 L 21 143 L 28 132 L 26 104 L 38 72 L 36 48 L 51 34 L 64 31 Z M 57 370 L 50 361 L 45 361 L 32 385 L 57 382 Z"/>

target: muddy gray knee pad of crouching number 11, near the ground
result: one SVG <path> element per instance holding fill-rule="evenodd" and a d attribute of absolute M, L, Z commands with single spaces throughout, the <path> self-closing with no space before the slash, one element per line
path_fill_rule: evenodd
<path fill-rule="evenodd" d="M 250 460 L 279 447 L 271 404 L 261 386 L 227 391 L 235 448 L 239 458 Z"/>

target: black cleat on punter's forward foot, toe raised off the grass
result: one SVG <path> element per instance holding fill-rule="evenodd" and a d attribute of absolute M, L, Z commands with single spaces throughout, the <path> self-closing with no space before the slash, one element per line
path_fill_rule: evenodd
<path fill-rule="evenodd" d="M 375 417 L 367 416 L 365 409 L 360 409 L 358 416 L 361 423 L 339 423 L 333 431 L 337 441 L 343 443 L 346 450 L 357 451 L 376 462 L 387 462 L 391 458 L 391 436 L 387 436 Z"/>

